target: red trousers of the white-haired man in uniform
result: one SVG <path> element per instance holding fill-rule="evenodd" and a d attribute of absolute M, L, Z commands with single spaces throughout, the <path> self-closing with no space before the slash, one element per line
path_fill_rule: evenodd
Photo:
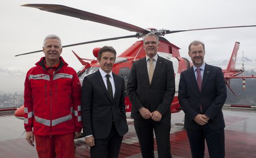
<path fill-rule="evenodd" d="M 73 158 L 74 134 L 35 136 L 39 158 Z"/>

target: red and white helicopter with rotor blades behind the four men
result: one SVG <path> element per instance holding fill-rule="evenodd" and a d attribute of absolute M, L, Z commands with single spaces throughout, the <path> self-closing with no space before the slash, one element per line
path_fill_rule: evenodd
<path fill-rule="evenodd" d="M 164 29 L 156 30 L 155 28 L 144 29 L 129 23 L 121 22 L 119 20 L 111 19 L 111 18 L 93 14 L 93 13 L 88 13 L 86 11 L 74 9 L 71 7 L 63 6 L 63 5 L 28 4 L 28 5 L 22 5 L 22 6 L 35 7 L 40 10 L 49 11 L 52 13 L 73 16 L 75 18 L 80 18 L 82 20 L 90 20 L 92 22 L 107 24 L 109 26 L 114 26 L 114 27 L 122 28 L 128 31 L 137 32 L 135 35 L 130 35 L 130 36 L 121 36 L 117 38 L 100 39 L 100 40 L 86 41 L 83 43 L 64 45 L 63 48 L 72 47 L 72 46 L 81 45 L 81 44 L 97 43 L 100 41 L 109 41 L 109 40 L 117 40 L 117 39 L 125 39 L 125 38 L 139 39 L 139 38 L 143 38 L 144 35 L 146 35 L 149 32 L 154 32 L 157 36 L 159 36 L 160 45 L 158 49 L 158 55 L 168 60 L 171 60 L 172 63 L 174 64 L 176 92 L 175 92 L 174 101 L 170 105 L 171 113 L 178 113 L 181 110 L 179 101 L 177 99 L 177 94 L 179 90 L 178 86 L 179 86 L 180 73 L 183 72 L 183 70 L 190 68 L 192 66 L 192 63 L 188 59 L 181 57 L 179 53 L 180 48 L 170 43 L 167 39 L 163 38 L 163 36 L 166 34 L 173 34 L 173 33 L 184 32 L 184 31 L 212 30 L 212 29 L 220 29 L 220 28 L 255 27 L 256 26 L 256 25 L 253 25 L 253 26 L 214 27 L 214 28 L 200 28 L 200 29 L 193 29 L 193 30 L 177 30 L 177 31 L 170 31 L 170 30 L 164 30 Z M 243 78 L 243 86 L 245 86 L 245 78 L 256 78 L 254 76 L 238 76 L 239 74 L 244 72 L 243 68 L 236 69 L 236 57 L 237 57 L 239 45 L 240 45 L 239 42 L 235 43 L 232 56 L 230 57 L 229 64 L 226 69 L 222 70 L 222 72 L 224 73 L 226 85 L 234 95 L 237 95 L 237 94 L 235 94 L 233 90 L 230 88 L 231 78 Z M 99 49 L 100 48 L 93 49 L 93 55 L 96 58 L 98 57 Z M 23 53 L 20 55 L 27 55 L 27 54 L 36 53 L 36 52 L 42 52 L 42 50 Z M 77 59 L 79 59 L 80 63 L 83 65 L 82 68 L 77 72 L 77 75 L 80 78 L 80 82 L 82 83 L 84 76 L 90 73 L 96 72 L 100 68 L 100 65 L 98 64 L 97 60 L 82 59 L 75 52 L 73 53 L 75 54 Z M 16 56 L 20 56 L 20 55 L 16 55 Z M 117 56 L 112 70 L 115 74 L 122 76 L 125 80 L 125 84 L 127 85 L 127 81 L 128 81 L 130 70 L 131 70 L 131 65 L 135 60 L 141 59 L 145 55 L 146 53 L 143 49 L 143 40 L 138 40 L 133 45 L 131 45 L 128 49 L 126 49 L 126 51 L 124 51 L 123 53 Z M 127 117 L 129 117 L 132 105 L 127 95 L 125 97 L 125 105 L 126 105 L 126 115 Z M 23 119 L 23 115 L 24 115 L 23 109 L 24 109 L 23 106 L 19 107 L 15 111 L 15 117 Z"/>

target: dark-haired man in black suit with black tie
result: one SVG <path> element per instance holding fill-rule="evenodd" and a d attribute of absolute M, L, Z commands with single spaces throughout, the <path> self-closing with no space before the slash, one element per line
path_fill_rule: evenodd
<path fill-rule="evenodd" d="M 118 157 L 128 131 L 125 114 L 125 81 L 112 73 L 116 52 L 104 46 L 98 52 L 100 69 L 82 82 L 82 125 L 90 156 Z"/>

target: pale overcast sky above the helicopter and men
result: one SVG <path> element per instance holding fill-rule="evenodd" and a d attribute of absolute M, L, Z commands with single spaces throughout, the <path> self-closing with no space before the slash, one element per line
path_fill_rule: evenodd
<path fill-rule="evenodd" d="M 49 34 L 58 35 L 63 45 L 67 45 L 83 41 L 134 35 L 136 33 L 20 6 L 28 3 L 65 5 L 121 20 L 141 28 L 187 30 L 256 24 L 255 0 L 1 0 L 1 68 L 22 68 L 27 71 L 31 66 L 34 66 L 40 57 L 44 56 L 43 52 L 18 57 L 14 57 L 14 55 L 42 49 L 43 39 Z M 187 47 L 191 41 L 201 40 L 205 43 L 205 60 L 228 59 L 235 41 L 239 41 L 241 44 L 238 56 L 241 57 L 242 51 L 244 51 L 246 57 L 256 59 L 256 27 L 180 32 L 164 37 L 181 48 L 180 55 L 183 57 L 188 57 Z M 81 57 L 93 59 L 92 49 L 95 47 L 112 45 L 120 54 L 137 40 L 135 38 L 122 39 L 63 48 L 62 56 L 70 66 L 78 70 L 81 65 L 71 50 Z"/>

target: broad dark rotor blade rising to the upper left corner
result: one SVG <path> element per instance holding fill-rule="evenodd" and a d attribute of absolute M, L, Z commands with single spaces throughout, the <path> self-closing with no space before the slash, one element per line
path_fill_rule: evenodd
<path fill-rule="evenodd" d="M 144 28 L 134 26 L 133 24 L 121 22 L 119 20 L 111 19 L 106 16 L 89 13 L 87 11 L 74 9 L 72 7 L 67 7 L 67 6 L 63 6 L 63 5 L 27 4 L 27 5 L 22 5 L 22 6 L 34 7 L 34 8 L 44 10 L 44 11 L 49 11 L 52 13 L 57 13 L 57 14 L 72 16 L 75 18 L 80 18 L 82 20 L 90 20 L 92 22 L 102 23 L 102 24 L 106 24 L 109 26 L 122 28 L 122 29 L 125 29 L 128 31 L 140 32 L 144 35 L 146 35 L 147 33 L 150 32 L 148 30 L 145 30 Z"/>

